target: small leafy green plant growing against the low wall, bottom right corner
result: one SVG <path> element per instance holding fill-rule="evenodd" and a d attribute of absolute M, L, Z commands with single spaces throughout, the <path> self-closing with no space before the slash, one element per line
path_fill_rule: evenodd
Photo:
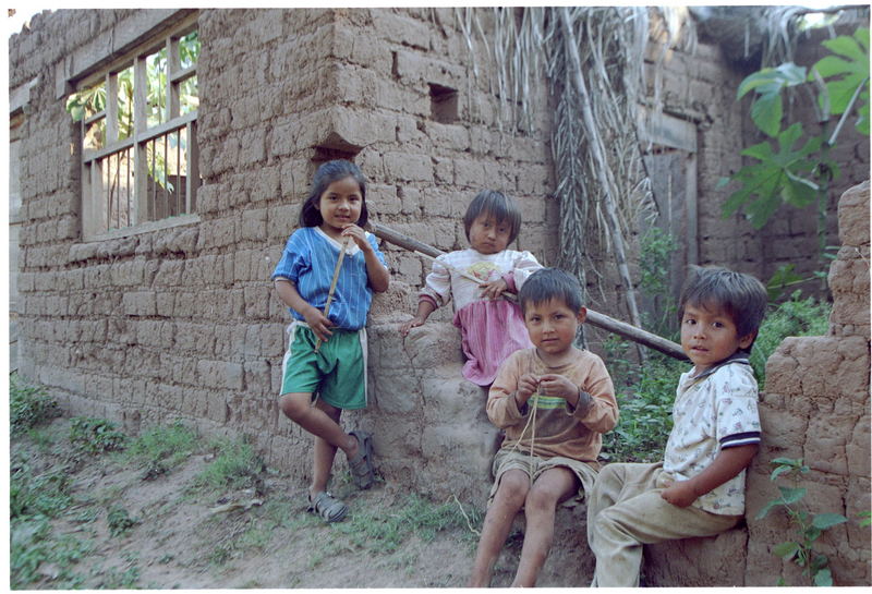
<path fill-rule="evenodd" d="M 758 512 L 756 519 L 762 520 L 773 509 L 780 508 L 796 529 L 795 540 L 779 544 L 772 549 L 772 553 L 801 567 L 802 573 L 809 577 L 812 584 L 832 586 L 833 575 L 828 567 L 829 559 L 814 549 L 814 543 L 825 531 L 847 522 L 848 519 L 840 513 L 813 514 L 803 508 L 801 504 L 808 489 L 799 486 L 799 478 L 810 469 L 802 462 L 802 459 L 776 458 L 771 463 L 775 468 L 770 480 L 776 482 L 784 476 L 791 480 L 792 486 L 778 485 L 780 495 L 778 498 L 767 501 Z"/>

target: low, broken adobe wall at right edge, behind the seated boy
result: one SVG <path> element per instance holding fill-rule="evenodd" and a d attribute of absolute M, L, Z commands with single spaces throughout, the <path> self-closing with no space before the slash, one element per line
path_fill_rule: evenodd
<path fill-rule="evenodd" d="M 838 203 L 841 247 L 829 267 L 834 307 L 823 337 L 788 338 L 766 364 L 761 420 L 766 436 L 749 475 L 748 583 L 768 585 L 783 575 L 804 585 L 796 566 L 770 549 L 789 540 L 783 516 L 753 520 L 777 489 L 770 482 L 773 458 L 803 458 L 811 468 L 801 486 L 813 513 L 848 518 L 818 542 L 829 557 L 836 585 L 869 585 L 870 532 L 858 513 L 870 509 L 870 314 L 869 181 Z"/>

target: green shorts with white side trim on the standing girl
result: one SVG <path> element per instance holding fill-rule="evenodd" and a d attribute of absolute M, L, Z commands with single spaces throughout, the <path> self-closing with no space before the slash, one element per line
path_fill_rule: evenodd
<path fill-rule="evenodd" d="M 288 351 L 281 364 L 281 393 L 318 393 L 342 410 L 366 408 L 366 329 L 332 330 L 322 342 L 303 322 L 288 326 Z"/>

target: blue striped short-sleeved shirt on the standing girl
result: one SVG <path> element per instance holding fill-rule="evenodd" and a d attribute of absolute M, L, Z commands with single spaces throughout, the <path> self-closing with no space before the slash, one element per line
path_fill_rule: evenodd
<path fill-rule="evenodd" d="M 375 250 L 378 262 L 387 268 L 375 235 L 366 233 L 366 241 Z M 340 248 L 341 244 L 318 227 L 301 227 L 284 244 L 284 252 L 270 278 L 290 280 L 306 303 L 324 311 Z M 366 260 L 361 248 L 352 244 L 342 259 L 342 270 L 327 317 L 339 329 L 360 330 L 366 325 L 372 301 L 373 289 L 366 274 Z M 294 319 L 305 319 L 299 312 L 290 307 L 288 311 Z"/>

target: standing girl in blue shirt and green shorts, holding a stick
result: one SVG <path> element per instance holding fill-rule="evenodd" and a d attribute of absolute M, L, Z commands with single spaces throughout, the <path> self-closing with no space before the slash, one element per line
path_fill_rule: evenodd
<path fill-rule="evenodd" d="M 342 410 L 366 407 L 364 325 L 373 292 L 386 291 L 389 281 L 375 237 L 362 229 L 367 216 L 361 170 L 346 160 L 322 165 L 300 213 L 300 229 L 288 239 L 272 272 L 276 292 L 293 316 L 279 405 L 315 436 L 308 510 L 327 522 L 348 512 L 327 490 L 337 449 L 348 457 L 359 488 L 368 488 L 375 478 L 372 436 L 346 433 L 339 425 Z M 346 255 L 332 289 L 340 250 Z"/>

